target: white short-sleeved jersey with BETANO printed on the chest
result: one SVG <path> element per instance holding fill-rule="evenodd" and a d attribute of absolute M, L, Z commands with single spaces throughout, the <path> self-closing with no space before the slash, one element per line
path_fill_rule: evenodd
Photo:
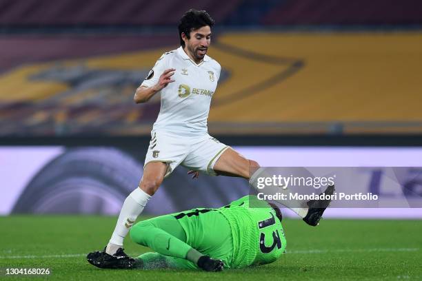
<path fill-rule="evenodd" d="M 153 130 L 185 136 L 207 134 L 211 98 L 217 88 L 221 65 L 207 55 L 196 64 L 180 47 L 163 54 L 141 85 L 157 84 L 161 74 L 169 68 L 176 70 L 171 77 L 174 82 L 160 91 L 160 113 Z"/>

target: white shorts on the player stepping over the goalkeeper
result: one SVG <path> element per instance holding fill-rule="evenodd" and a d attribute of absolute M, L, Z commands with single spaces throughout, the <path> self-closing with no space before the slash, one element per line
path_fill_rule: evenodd
<path fill-rule="evenodd" d="M 168 165 L 165 177 L 179 165 L 210 176 L 217 176 L 214 164 L 228 148 L 209 134 L 179 136 L 170 132 L 153 130 L 144 167 L 150 162 L 164 162 Z"/>

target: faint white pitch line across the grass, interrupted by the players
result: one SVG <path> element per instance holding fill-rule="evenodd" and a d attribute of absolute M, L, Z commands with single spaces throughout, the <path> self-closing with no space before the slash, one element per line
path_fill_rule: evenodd
<path fill-rule="evenodd" d="M 419 248 L 374 248 L 374 249 L 334 249 L 334 250 L 295 250 L 285 253 L 365 253 L 365 252 L 399 252 L 399 251 L 419 251 Z M 0 259 L 17 259 L 17 258 L 78 258 L 85 257 L 86 253 L 73 253 L 66 255 L 47 255 L 47 256 L 0 256 Z M 137 255 L 134 255 L 137 256 Z"/>

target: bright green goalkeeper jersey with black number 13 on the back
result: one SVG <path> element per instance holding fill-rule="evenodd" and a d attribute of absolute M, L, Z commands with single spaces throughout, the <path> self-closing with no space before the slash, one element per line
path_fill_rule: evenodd
<path fill-rule="evenodd" d="M 245 196 L 219 211 L 232 229 L 233 268 L 268 264 L 285 251 L 283 226 L 267 202 Z"/>

